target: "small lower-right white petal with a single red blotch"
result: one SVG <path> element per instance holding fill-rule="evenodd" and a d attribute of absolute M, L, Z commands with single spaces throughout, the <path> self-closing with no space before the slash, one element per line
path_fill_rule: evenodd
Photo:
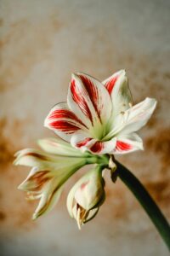
<path fill-rule="evenodd" d="M 122 134 L 117 137 L 113 154 L 127 154 L 136 150 L 144 150 L 142 139 L 136 134 Z"/>

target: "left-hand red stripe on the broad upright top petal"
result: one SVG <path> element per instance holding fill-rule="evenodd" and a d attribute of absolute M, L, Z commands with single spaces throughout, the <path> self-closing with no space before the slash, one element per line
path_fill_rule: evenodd
<path fill-rule="evenodd" d="M 82 113 L 84 113 L 86 116 L 88 116 L 88 119 L 90 119 L 90 121 L 93 125 L 92 113 L 91 113 L 90 109 L 88 108 L 88 103 L 86 102 L 85 97 L 82 96 L 83 94 L 86 95 L 86 92 L 78 89 L 75 79 L 71 80 L 71 94 L 72 94 L 73 101 L 77 103 L 79 108 L 81 108 Z"/>

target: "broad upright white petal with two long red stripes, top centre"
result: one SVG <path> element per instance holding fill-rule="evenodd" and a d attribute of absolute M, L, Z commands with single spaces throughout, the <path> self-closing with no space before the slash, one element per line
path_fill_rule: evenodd
<path fill-rule="evenodd" d="M 105 86 L 84 73 L 72 75 L 67 102 L 88 128 L 107 122 L 111 116 L 111 98 Z"/>

